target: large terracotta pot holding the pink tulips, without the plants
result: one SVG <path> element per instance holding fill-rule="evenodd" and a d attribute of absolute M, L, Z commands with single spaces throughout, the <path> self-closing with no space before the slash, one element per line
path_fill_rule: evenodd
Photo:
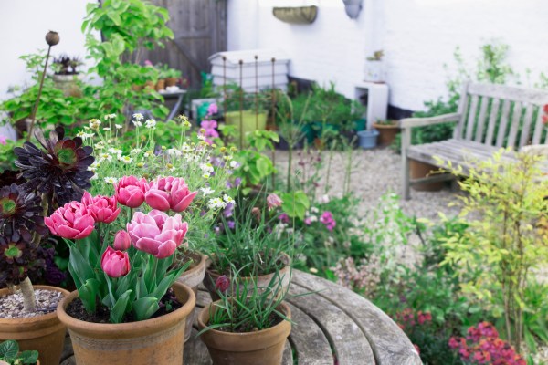
<path fill-rule="evenodd" d="M 70 334 L 76 362 L 86 365 L 183 364 L 184 320 L 195 307 L 190 287 L 175 282 L 183 307 L 164 316 L 131 323 L 90 323 L 68 316 L 65 309 L 78 297 L 73 291 L 58 306 L 58 317 Z"/>

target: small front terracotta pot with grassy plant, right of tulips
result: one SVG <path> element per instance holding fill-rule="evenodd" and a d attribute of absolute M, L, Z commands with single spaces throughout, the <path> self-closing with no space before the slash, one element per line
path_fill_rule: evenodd
<path fill-rule="evenodd" d="M 291 331 L 291 311 L 283 302 L 287 289 L 281 286 L 279 273 L 261 287 L 238 279 L 236 267 L 231 271 L 216 281 L 220 299 L 198 316 L 198 335 L 213 364 L 280 364 Z"/>

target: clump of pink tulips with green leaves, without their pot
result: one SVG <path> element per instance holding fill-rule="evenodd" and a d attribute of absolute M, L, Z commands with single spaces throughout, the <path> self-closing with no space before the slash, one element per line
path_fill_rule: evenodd
<path fill-rule="evenodd" d="M 190 265 L 174 265 L 174 252 L 184 245 L 188 224 L 178 213 L 143 213 L 150 209 L 141 207 L 148 186 L 144 179 L 126 176 L 115 196 L 85 193 L 81 202 L 67 203 L 45 219 L 51 233 L 68 243 L 68 268 L 82 305 L 95 312 L 101 303 L 110 309 L 112 323 L 129 314 L 134 320 L 151 318 Z M 119 206 L 121 201 L 126 206 Z M 139 211 L 133 214 L 133 208 Z"/>

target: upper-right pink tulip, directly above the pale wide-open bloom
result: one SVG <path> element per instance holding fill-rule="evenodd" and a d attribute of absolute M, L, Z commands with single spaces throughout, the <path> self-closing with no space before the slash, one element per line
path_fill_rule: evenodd
<path fill-rule="evenodd" d="M 180 177 L 163 177 L 150 184 L 144 199 L 153 209 L 183 212 L 198 192 L 190 193 L 188 185 Z"/>

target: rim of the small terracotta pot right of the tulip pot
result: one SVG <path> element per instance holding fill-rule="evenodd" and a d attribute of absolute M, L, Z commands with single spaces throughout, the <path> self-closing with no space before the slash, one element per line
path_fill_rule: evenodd
<path fill-rule="evenodd" d="M 220 300 L 216 300 L 215 302 L 209 303 L 207 306 L 202 308 L 202 310 L 198 314 L 198 318 L 197 318 L 197 320 L 198 320 L 198 330 L 202 330 L 202 329 L 207 327 L 206 323 L 209 323 L 209 319 L 205 320 L 205 318 L 208 318 L 208 316 L 209 316 L 209 308 L 212 308 L 216 303 L 219 303 L 219 302 L 220 302 Z M 285 316 L 287 318 L 291 319 L 291 309 L 290 309 L 290 306 L 288 306 L 288 304 L 285 301 L 282 301 L 281 303 L 279 303 L 279 306 L 277 308 L 279 308 L 279 311 L 281 311 L 283 314 L 285 314 Z M 279 334 L 283 334 L 284 332 L 287 332 L 287 334 L 284 337 L 284 338 L 287 338 L 287 336 L 289 336 L 289 334 L 290 334 L 290 331 L 291 331 L 291 322 L 282 318 L 281 322 L 279 322 L 275 326 L 270 327 L 270 328 L 261 329 L 261 330 L 258 330 L 258 331 L 253 331 L 253 332 L 225 332 L 225 331 L 218 330 L 218 329 L 209 329 L 206 332 L 204 332 L 203 334 L 201 334 L 200 338 L 207 338 L 208 334 L 209 334 L 209 337 L 211 337 L 212 335 L 213 336 L 222 336 L 225 339 L 228 339 L 228 341 L 240 342 L 240 341 L 248 340 L 246 338 L 255 338 L 255 337 L 258 337 L 258 336 L 261 336 L 261 335 L 268 336 L 269 338 L 274 338 L 274 337 L 279 336 Z M 207 341 L 207 342 L 208 342 L 207 346 L 211 346 L 215 349 L 223 349 L 220 346 L 216 347 L 216 342 L 214 342 L 213 344 L 209 343 L 209 341 Z M 251 349 L 253 349 L 253 345 L 251 343 L 249 343 L 248 345 Z M 228 345 L 227 348 L 230 349 L 231 346 Z M 262 348 L 264 348 L 264 346 L 262 346 L 262 343 L 259 343 L 258 346 L 257 346 L 257 349 L 262 349 Z"/>

